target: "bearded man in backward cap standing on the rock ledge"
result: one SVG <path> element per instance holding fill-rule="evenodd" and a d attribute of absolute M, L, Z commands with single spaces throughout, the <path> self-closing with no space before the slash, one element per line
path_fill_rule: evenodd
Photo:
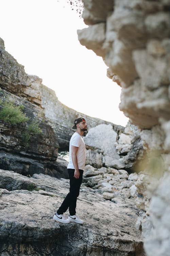
<path fill-rule="evenodd" d="M 86 161 L 85 143 L 82 139 L 84 131 L 87 131 L 87 124 L 84 118 L 76 118 L 74 126 L 76 132 L 72 135 L 69 144 L 69 164 L 67 166 L 68 176 L 70 179 L 70 191 L 60 208 L 54 214 L 53 219 L 62 223 L 76 222 L 83 224 L 84 221 L 76 214 L 75 208 L 77 197 L 80 193 L 80 186 L 83 178 L 83 169 Z M 69 208 L 69 217 L 66 219 L 64 212 Z"/>

